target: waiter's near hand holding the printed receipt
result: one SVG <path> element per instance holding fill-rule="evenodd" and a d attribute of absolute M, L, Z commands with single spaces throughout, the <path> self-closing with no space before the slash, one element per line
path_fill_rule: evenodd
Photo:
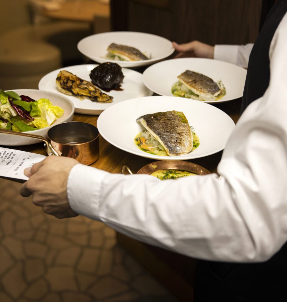
<path fill-rule="evenodd" d="M 78 163 L 68 157 L 47 156 L 25 169 L 25 175 L 30 178 L 22 185 L 20 194 L 24 197 L 33 194 L 33 203 L 57 218 L 77 216 L 69 205 L 67 182 L 71 169 Z"/>

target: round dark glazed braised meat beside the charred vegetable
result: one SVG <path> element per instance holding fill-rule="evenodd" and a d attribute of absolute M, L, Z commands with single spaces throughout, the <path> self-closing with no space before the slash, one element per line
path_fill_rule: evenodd
<path fill-rule="evenodd" d="M 103 90 L 110 91 L 121 86 L 124 75 L 117 63 L 105 62 L 95 67 L 90 78 L 92 83 Z"/>

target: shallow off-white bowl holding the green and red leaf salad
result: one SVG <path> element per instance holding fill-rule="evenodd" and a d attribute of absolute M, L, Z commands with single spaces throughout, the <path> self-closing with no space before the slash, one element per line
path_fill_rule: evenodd
<path fill-rule="evenodd" d="M 51 127 L 60 123 L 69 122 L 73 120 L 74 110 L 75 110 L 74 104 L 63 95 L 59 95 L 54 92 L 37 90 L 37 89 L 11 89 L 11 90 L 16 92 L 18 95 L 27 95 L 36 101 L 39 98 L 47 98 L 52 102 L 53 105 L 59 106 L 64 109 L 63 116 L 58 118 L 51 126 L 39 130 L 27 131 L 25 133 L 33 133 L 35 135 L 40 135 L 47 138 L 47 132 Z M 21 137 L 13 134 L 0 133 L 0 145 L 4 145 L 4 146 L 23 146 L 23 145 L 40 143 L 40 142 L 41 142 L 40 140 L 36 140 L 30 137 Z"/>

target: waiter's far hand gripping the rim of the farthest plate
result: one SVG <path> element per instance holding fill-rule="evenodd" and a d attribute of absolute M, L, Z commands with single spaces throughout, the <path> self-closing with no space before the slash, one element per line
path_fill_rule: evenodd
<path fill-rule="evenodd" d="M 173 42 L 173 47 L 179 52 L 175 58 L 197 57 L 213 59 L 214 55 L 214 46 L 199 41 L 191 41 L 180 45 Z"/>

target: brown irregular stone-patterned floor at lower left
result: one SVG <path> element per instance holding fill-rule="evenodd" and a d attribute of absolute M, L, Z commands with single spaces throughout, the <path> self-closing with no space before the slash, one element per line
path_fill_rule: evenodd
<path fill-rule="evenodd" d="M 103 223 L 59 220 L 0 179 L 1 302 L 176 302 Z"/>

